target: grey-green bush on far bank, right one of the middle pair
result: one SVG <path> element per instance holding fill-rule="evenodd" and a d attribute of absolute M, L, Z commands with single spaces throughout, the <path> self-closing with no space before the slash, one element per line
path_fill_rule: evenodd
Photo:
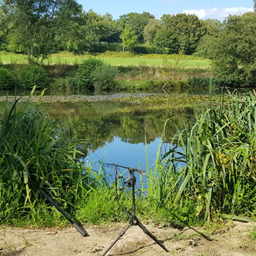
<path fill-rule="evenodd" d="M 92 72 L 95 90 L 114 90 L 118 81 L 119 70 L 111 65 L 102 65 Z"/>

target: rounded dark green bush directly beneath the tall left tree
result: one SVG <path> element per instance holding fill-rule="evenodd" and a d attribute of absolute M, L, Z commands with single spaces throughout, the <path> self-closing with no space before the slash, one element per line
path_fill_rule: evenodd
<path fill-rule="evenodd" d="M 20 85 L 24 89 L 37 89 L 47 87 L 49 79 L 43 67 L 32 65 L 22 69 L 20 74 Z"/>

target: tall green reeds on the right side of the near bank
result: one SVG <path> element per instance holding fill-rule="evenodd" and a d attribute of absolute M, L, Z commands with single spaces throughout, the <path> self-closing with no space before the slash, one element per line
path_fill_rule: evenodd
<path fill-rule="evenodd" d="M 255 214 L 256 96 L 229 96 L 227 105 L 198 115 L 192 129 L 177 129 L 163 157 L 172 203 L 193 200 L 204 221 L 211 211 Z"/>

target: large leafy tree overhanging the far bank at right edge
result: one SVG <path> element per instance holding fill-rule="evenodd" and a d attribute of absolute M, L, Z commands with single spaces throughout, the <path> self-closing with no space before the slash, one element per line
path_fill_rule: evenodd
<path fill-rule="evenodd" d="M 256 84 L 256 12 L 230 15 L 214 45 L 216 77 L 233 85 Z"/>

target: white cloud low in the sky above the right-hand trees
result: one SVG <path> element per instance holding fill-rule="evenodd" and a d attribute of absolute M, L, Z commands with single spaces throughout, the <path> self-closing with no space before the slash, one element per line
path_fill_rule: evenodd
<path fill-rule="evenodd" d="M 200 9 L 200 10 L 184 10 L 182 13 L 195 14 L 199 19 L 224 19 L 228 15 L 243 14 L 245 12 L 253 12 L 253 8 L 246 7 L 230 7 L 224 9 L 218 9 L 214 7 L 212 9 Z"/>

